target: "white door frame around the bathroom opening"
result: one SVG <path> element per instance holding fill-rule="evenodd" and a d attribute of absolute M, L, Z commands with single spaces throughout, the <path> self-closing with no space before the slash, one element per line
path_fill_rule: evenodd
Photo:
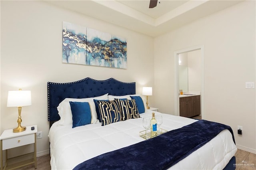
<path fill-rule="evenodd" d="M 202 119 L 205 119 L 205 115 L 204 115 L 204 46 L 203 45 L 190 47 L 190 48 L 182 49 L 179 51 L 174 51 L 174 62 L 175 62 L 174 112 L 176 116 L 180 116 L 180 98 L 179 98 L 180 88 L 179 87 L 181 86 L 184 87 L 184 85 L 180 85 L 179 56 L 181 56 L 182 54 L 189 53 L 191 51 L 197 51 L 197 50 L 200 50 L 200 61 L 201 61 L 201 77 L 200 77 L 201 116 L 202 116 Z M 188 87 L 188 91 L 189 91 L 189 87 Z"/>

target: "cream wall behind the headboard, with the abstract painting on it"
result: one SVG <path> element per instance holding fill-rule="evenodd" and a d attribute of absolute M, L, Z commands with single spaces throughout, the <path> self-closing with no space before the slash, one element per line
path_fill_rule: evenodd
<path fill-rule="evenodd" d="M 37 140 L 38 154 L 44 154 L 49 149 L 48 81 L 70 82 L 85 77 L 105 80 L 114 77 L 120 81 L 136 81 L 137 93 L 142 93 L 142 86 L 154 85 L 153 38 L 46 2 L 0 3 L 1 133 L 4 129 L 17 126 L 17 109 L 6 107 L 8 91 L 19 88 L 31 90 L 32 105 L 22 108 L 22 125 L 38 125 L 38 130 L 42 131 L 43 138 Z M 127 38 L 127 69 L 62 63 L 63 21 Z M 152 105 L 153 101 L 150 98 Z"/>

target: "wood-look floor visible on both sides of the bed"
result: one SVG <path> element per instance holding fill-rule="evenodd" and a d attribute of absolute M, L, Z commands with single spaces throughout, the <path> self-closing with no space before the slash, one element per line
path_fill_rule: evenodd
<path fill-rule="evenodd" d="M 236 154 L 236 170 L 256 170 L 256 154 L 238 149 Z M 50 154 L 37 157 L 37 170 L 50 170 Z M 33 165 L 18 170 L 34 170 Z"/>

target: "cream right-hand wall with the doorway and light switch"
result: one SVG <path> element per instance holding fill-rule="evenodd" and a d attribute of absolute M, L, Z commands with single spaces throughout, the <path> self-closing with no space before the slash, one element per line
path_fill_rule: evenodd
<path fill-rule="evenodd" d="M 256 93 L 245 89 L 256 77 L 255 16 L 245 1 L 155 38 L 154 107 L 175 114 L 174 51 L 204 45 L 204 119 L 230 125 L 237 146 L 256 153 Z"/>

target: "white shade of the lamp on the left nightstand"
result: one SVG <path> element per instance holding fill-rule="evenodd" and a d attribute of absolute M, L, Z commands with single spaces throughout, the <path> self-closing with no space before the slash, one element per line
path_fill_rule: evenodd
<path fill-rule="evenodd" d="M 8 91 L 7 107 L 31 105 L 31 91 Z"/>

